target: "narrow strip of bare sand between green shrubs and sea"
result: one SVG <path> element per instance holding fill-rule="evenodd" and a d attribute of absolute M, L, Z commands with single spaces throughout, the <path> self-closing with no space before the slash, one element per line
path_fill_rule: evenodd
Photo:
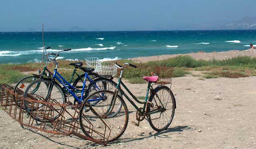
<path fill-rule="evenodd" d="M 197 53 L 188 53 L 188 54 L 168 54 L 168 55 L 160 55 L 160 56 L 146 56 L 146 57 L 137 57 L 137 58 L 129 58 L 128 60 L 134 60 L 135 62 L 149 62 L 149 61 L 157 61 L 157 60 L 166 60 L 169 58 L 174 58 L 176 56 L 191 56 L 196 60 L 211 60 L 215 58 L 216 60 L 225 60 L 228 58 L 234 58 L 238 56 L 251 56 L 256 57 L 256 50 L 229 50 L 223 52 L 197 52 Z"/>

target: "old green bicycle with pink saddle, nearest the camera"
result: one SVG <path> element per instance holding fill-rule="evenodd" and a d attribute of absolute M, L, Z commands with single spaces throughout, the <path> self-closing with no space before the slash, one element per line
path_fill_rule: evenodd
<path fill-rule="evenodd" d="M 156 131 L 163 131 L 167 129 L 174 117 L 174 111 L 176 109 L 176 101 L 174 95 L 169 87 L 163 85 L 170 82 L 162 82 L 157 87 L 153 88 L 155 83 L 158 83 L 158 80 L 161 79 L 158 76 L 143 77 L 148 81 L 148 87 L 146 91 L 146 96 L 144 101 L 139 101 L 132 92 L 124 85 L 122 82 L 122 75 L 124 73 L 124 66 L 131 66 L 137 68 L 133 64 L 123 64 L 120 66 L 116 63 L 116 67 L 121 69 L 120 77 L 118 79 L 116 90 L 101 90 L 97 91 L 86 98 L 86 101 L 83 103 L 80 109 L 80 126 L 82 131 L 88 137 L 93 139 L 98 139 L 99 141 L 111 142 L 118 139 L 126 130 L 128 125 L 128 109 L 126 103 L 122 97 L 118 94 L 121 94 L 126 97 L 126 99 L 135 107 L 136 111 L 136 120 L 138 123 L 132 122 L 134 125 L 139 126 L 140 121 L 147 119 L 152 129 Z M 170 77 L 170 76 L 169 76 Z M 124 92 L 124 89 L 130 94 L 130 96 L 137 102 L 143 105 L 143 107 L 138 107 L 132 99 Z M 148 98 L 148 95 L 150 96 Z M 88 106 L 88 100 L 98 100 L 101 99 L 101 103 L 97 106 Z M 103 102 L 106 101 L 106 102 Z M 122 109 L 114 117 L 109 115 L 116 111 L 119 103 L 122 103 Z M 86 113 L 86 108 L 90 107 L 90 111 Z M 92 121 L 88 123 L 82 115 L 90 117 Z M 103 127 L 108 126 L 108 127 Z"/>

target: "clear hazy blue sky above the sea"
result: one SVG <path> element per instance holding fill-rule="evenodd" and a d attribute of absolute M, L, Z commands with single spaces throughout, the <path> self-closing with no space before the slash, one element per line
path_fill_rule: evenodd
<path fill-rule="evenodd" d="M 204 30 L 244 16 L 255 0 L 1 0 L 0 32 Z"/>

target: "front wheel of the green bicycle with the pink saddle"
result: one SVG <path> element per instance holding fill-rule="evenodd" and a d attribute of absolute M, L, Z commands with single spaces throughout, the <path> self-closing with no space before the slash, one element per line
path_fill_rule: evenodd
<path fill-rule="evenodd" d="M 121 96 L 116 97 L 116 102 L 114 96 L 113 91 L 101 90 L 86 98 L 79 113 L 80 127 L 86 136 L 102 142 L 112 142 L 124 133 L 128 125 L 128 109 Z M 92 106 L 89 100 L 99 100 L 99 102 Z M 120 102 L 122 103 L 120 111 L 115 116 L 109 117 L 110 113 L 118 109 Z"/>

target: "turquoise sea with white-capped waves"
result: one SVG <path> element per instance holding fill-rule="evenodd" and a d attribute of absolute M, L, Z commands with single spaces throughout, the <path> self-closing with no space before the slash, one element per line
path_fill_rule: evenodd
<path fill-rule="evenodd" d="M 104 60 L 184 54 L 198 51 L 246 50 L 256 44 L 256 30 L 45 32 L 49 52 L 62 52 L 59 59 Z M 0 63 L 40 62 L 41 32 L 0 32 Z"/>

